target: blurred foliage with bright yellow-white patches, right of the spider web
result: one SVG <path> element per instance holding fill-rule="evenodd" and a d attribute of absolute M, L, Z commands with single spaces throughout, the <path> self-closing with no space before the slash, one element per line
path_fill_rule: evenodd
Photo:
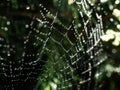
<path fill-rule="evenodd" d="M 106 62 L 101 65 L 99 78 L 100 90 L 119 90 L 120 86 L 120 1 L 101 0 L 103 25 L 105 35 L 101 36 L 104 50 L 108 55 Z"/>

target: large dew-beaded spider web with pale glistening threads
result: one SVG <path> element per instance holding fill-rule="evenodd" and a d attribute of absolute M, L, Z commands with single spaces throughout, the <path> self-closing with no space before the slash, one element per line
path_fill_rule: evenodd
<path fill-rule="evenodd" d="M 90 0 L 74 1 L 73 18 L 63 22 L 58 10 L 52 13 L 39 4 L 42 18 L 35 16 L 19 58 L 16 48 L 0 38 L 1 87 L 3 90 L 93 90 L 97 67 L 104 61 L 100 36 L 102 16 Z M 64 18 L 65 19 L 65 18 Z M 12 58 L 12 59 L 11 59 Z"/>

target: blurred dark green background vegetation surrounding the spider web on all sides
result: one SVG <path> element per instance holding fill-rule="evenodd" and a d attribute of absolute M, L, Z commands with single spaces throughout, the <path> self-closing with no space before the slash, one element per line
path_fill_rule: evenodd
<path fill-rule="evenodd" d="M 105 35 L 101 36 L 104 45 L 104 52 L 107 60 L 100 65 L 96 73 L 95 90 L 119 90 L 120 89 L 120 0 L 91 0 L 96 7 L 96 12 L 102 15 L 103 30 Z M 30 23 L 35 17 L 42 18 L 39 5 L 56 14 L 62 22 L 58 22 L 61 27 L 69 26 L 70 21 L 74 18 L 71 14 L 76 14 L 73 0 L 63 0 L 61 7 L 57 0 L 1 0 L 0 1 L 0 37 L 5 38 L 16 50 L 15 59 L 19 60 L 22 55 L 24 41 L 30 30 Z M 42 11 L 46 13 L 45 11 Z M 51 20 L 52 16 L 46 15 Z M 64 17 L 64 18 L 63 18 Z M 76 22 L 76 25 L 78 25 Z M 35 26 L 39 28 L 40 26 Z M 74 38 L 73 38 L 74 39 Z M 72 40 L 72 39 L 71 39 Z M 74 40 L 73 40 L 74 41 Z M 31 41 L 34 43 L 34 41 Z M 31 44 L 30 43 L 30 44 Z M 54 44 L 53 44 L 54 45 Z M 6 47 L 0 48 L 0 52 L 6 50 Z M 32 52 L 31 52 L 32 53 Z M 1 53 L 2 54 L 2 53 Z M 6 57 L 6 56 L 4 56 Z M 54 61 L 53 61 L 54 62 Z M 49 62 L 50 63 L 50 62 Z M 49 65 L 47 65 L 50 67 Z M 51 72 L 54 73 L 54 72 Z M 42 76 L 41 76 L 42 77 Z M 56 90 L 53 86 L 59 81 L 54 77 L 43 83 L 42 90 Z M 64 89 L 65 90 L 65 89 Z"/>

